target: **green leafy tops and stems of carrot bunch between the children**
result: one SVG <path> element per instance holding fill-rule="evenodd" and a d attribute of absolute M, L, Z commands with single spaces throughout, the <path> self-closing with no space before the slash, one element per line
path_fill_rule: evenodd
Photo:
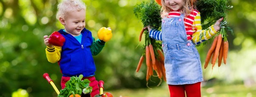
<path fill-rule="evenodd" d="M 161 30 L 162 26 L 162 18 L 160 15 L 161 12 L 161 6 L 158 5 L 154 0 L 151 0 L 150 3 L 145 3 L 144 1 L 141 4 L 135 5 L 134 8 L 134 14 L 141 20 L 144 27 L 150 26 L 156 30 Z M 144 46 L 144 52 L 142 53 L 142 56 L 145 55 L 146 46 L 149 44 L 152 44 L 154 48 L 154 54 L 155 57 L 158 59 L 157 56 L 159 54 L 157 53 L 157 49 L 162 49 L 161 42 L 156 41 L 155 39 L 152 39 L 149 37 L 149 32 L 146 29 L 145 30 L 145 44 Z"/>

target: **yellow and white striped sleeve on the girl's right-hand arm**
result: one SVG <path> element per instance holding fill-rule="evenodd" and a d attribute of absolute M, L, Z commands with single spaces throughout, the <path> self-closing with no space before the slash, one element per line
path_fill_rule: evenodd
<path fill-rule="evenodd" d="M 206 29 L 206 30 L 202 30 L 200 13 L 196 14 L 195 21 L 193 22 L 193 26 L 195 25 L 195 23 L 196 23 L 197 31 L 194 32 L 195 30 L 194 30 L 194 28 L 192 28 L 193 32 L 194 32 L 192 35 L 192 40 L 196 45 L 204 42 L 205 40 L 210 39 L 217 33 L 214 30 L 213 25 L 208 27 L 208 29 Z M 203 36 L 201 39 L 200 39 L 200 35 Z"/>

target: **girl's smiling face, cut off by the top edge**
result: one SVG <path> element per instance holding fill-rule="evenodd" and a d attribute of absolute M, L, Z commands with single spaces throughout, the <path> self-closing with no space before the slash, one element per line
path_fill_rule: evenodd
<path fill-rule="evenodd" d="M 179 10 L 182 7 L 183 0 L 165 0 L 165 5 L 174 11 Z"/>

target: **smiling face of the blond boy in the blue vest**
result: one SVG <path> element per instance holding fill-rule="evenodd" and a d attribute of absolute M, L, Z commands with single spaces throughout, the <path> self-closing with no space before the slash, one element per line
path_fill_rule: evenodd
<path fill-rule="evenodd" d="M 85 27 L 85 10 L 74 11 L 65 16 L 65 31 L 72 36 L 79 36 Z"/>

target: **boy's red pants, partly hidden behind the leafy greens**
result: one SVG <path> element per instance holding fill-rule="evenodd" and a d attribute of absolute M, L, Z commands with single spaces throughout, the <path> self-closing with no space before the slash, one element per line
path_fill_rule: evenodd
<path fill-rule="evenodd" d="M 94 97 L 96 94 L 100 94 L 99 91 L 99 86 L 98 86 L 98 81 L 96 81 L 96 78 L 94 76 L 90 76 L 90 77 L 83 77 L 82 80 L 84 79 L 88 79 L 89 81 L 91 81 L 90 85 L 92 87 L 92 92 L 91 92 L 91 97 Z M 62 77 L 61 78 L 61 87 L 62 89 L 65 88 L 65 84 L 67 81 L 70 80 L 70 77 Z"/>

